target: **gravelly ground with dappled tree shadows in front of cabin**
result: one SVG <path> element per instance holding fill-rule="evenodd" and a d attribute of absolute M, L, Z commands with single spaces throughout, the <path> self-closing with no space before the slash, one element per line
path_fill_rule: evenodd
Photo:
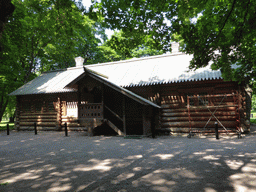
<path fill-rule="evenodd" d="M 255 141 L 0 132 L 0 192 L 256 191 Z"/>

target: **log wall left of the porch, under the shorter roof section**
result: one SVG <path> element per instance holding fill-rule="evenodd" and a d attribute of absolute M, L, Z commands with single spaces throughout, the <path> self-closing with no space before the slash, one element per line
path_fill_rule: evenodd
<path fill-rule="evenodd" d="M 77 117 L 68 117 L 67 103 L 77 103 L 77 93 L 27 95 L 17 97 L 16 129 L 63 130 L 67 123 L 69 130 L 86 130 Z"/>

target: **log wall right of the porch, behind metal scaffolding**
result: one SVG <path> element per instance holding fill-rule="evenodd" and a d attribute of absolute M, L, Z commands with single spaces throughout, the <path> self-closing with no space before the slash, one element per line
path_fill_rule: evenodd
<path fill-rule="evenodd" d="M 161 105 L 159 128 L 162 130 L 214 132 L 215 121 L 229 131 L 249 130 L 246 92 L 244 86 L 236 82 L 181 82 L 130 87 L 129 90 Z M 212 117 L 214 111 L 217 120 Z"/>

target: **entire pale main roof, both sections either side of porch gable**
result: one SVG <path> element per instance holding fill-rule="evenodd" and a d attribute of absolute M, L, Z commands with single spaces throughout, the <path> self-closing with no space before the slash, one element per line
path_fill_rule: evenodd
<path fill-rule="evenodd" d="M 183 53 L 130 59 L 84 66 L 89 71 L 121 87 L 144 86 L 186 81 L 221 79 L 221 72 L 205 67 L 188 71 L 191 55 Z M 50 71 L 23 85 L 10 95 L 74 92 L 66 87 L 84 73 L 83 67 Z"/>

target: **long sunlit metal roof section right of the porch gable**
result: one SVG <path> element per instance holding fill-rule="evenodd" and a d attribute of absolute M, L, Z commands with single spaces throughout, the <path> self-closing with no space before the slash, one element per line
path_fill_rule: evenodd
<path fill-rule="evenodd" d="M 213 71 L 210 66 L 189 71 L 191 59 L 192 55 L 176 53 L 85 67 L 122 87 L 222 79 L 220 70 Z"/>

